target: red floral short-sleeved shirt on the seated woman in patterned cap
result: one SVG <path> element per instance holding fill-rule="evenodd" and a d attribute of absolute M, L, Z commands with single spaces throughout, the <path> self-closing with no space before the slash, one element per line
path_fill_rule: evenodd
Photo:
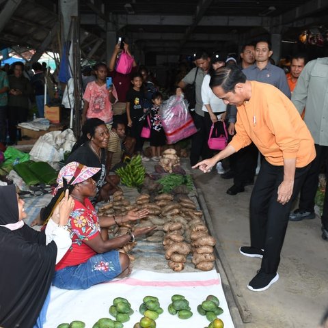
<path fill-rule="evenodd" d="M 74 208 L 68 219 L 72 246 L 56 265 L 56 270 L 79 265 L 96 255 L 96 251 L 84 242 L 91 241 L 100 234 L 98 215 L 89 199 L 86 198 L 84 203 L 74 200 Z"/>

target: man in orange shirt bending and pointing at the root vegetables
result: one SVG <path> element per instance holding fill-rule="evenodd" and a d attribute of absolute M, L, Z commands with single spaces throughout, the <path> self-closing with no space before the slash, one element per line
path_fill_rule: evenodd
<path fill-rule="evenodd" d="M 232 66 L 219 68 L 210 87 L 227 105 L 236 105 L 236 135 L 219 154 L 193 168 L 209 172 L 218 161 L 252 141 L 263 154 L 251 193 L 251 246 L 241 247 L 240 252 L 262 258 L 261 268 L 247 288 L 266 290 L 279 279 L 277 269 L 290 208 L 316 156 L 314 141 L 295 106 L 273 85 L 248 81 Z"/>

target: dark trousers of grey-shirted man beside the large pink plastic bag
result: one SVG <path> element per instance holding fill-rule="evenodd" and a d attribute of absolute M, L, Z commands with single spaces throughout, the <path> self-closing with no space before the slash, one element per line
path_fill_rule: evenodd
<path fill-rule="evenodd" d="M 211 151 L 207 145 L 208 136 L 206 139 L 204 117 L 198 115 L 197 113 L 193 113 L 193 122 L 195 123 L 195 126 L 197 128 L 197 133 L 191 136 L 191 166 L 197 164 L 201 156 L 202 159 L 209 159 L 211 157 Z"/>

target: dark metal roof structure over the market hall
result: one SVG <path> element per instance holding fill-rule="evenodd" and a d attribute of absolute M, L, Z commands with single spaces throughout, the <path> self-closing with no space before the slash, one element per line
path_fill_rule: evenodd
<path fill-rule="evenodd" d="M 328 28 L 328 0 L 76 0 L 81 52 L 105 59 L 106 36 L 144 54 L 236 49 L 269 33 L 296 42 L 302 29 Z M 0 0 L 0 49 L 59 51 L 61 0 Z M 19 46 L 19 47 L 17 47 Z"/>

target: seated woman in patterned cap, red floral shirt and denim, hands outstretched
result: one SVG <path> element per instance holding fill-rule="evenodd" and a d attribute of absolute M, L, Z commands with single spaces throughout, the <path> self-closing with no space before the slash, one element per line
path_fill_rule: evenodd
<path fill-rule="evenodd" d="M 82 168 L 81 168 L 82 166 Z M 77 169 L 81 172 L 77 175 Z M 57 264 L 53 285 L 64 289 L 86 289 L 115 277 L 126 277 L 131 273 L 128 256 L 116 249 L 133 242 L 135 237 L 147 234 L 155 227 L 135 228 L 135 230 L 103 240 L 100 228 L 114 226 L 126 221 L 135 221 L 148 215 L 148 210 L 130 211 L 120 217 L 98 217 L 89 200 L 96 194 L 96 182 L 92 176 L 99 167 L 86 167 L 77 162 L 64 166 L 58 175 L 58 187 L 64 184 L 63 178 L 74 180 L 70 195 L 74 199 L 74 209 L 68 220 L 68 230 L 72 238 L 72 247 Z"/>

